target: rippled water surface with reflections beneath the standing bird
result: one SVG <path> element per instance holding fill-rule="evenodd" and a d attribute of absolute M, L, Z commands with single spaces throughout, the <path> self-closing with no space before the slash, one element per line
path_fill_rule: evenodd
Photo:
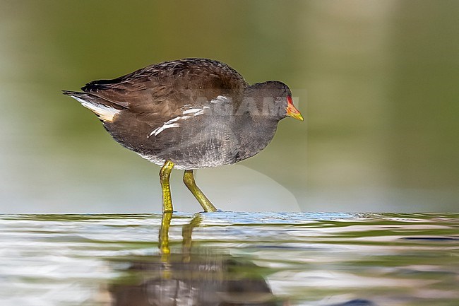
<path fill-rule="evenodd" d="M 0 305 L 459 305 L 457 213 L 162 217 L 1 216 Z"/>

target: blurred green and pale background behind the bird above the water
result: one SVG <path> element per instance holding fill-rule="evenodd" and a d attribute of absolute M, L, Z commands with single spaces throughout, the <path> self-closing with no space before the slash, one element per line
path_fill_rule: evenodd
<path fill-rule="evenodd" d="M 458 20 L 456 0 L 0 0 L 0 213 L 160 211 L 160 168 L 60 90 L 183 57 L 284 81 L 305 117 L 198 171 L 218 208 L 458 211 Z"/>

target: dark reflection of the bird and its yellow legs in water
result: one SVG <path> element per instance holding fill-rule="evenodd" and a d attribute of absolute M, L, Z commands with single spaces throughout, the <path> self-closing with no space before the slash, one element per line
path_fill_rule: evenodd
<path fill-rule="evenodd" d="M 286 306 L 251 262 L 192 247 L 193 228 L 201 215 L 182 228 L 181 251 L 171 252 L 169 228 L 172 213 L 162 215 L 160 255 L 122 262 L 129 276 L 109 288 L 113 306 Z M 125 265 L 124 265 L 125 266 Z"/>

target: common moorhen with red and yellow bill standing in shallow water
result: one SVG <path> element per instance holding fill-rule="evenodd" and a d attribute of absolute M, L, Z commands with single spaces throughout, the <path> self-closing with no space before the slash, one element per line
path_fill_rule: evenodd
<path fill-rule="evenodd" d="M 162 166 L 163 213 L 173 211 L 172 168 L 185 170 L 184 183 L 204 211 L 216 211 L 193 170 L 249 158 L 273 139 L 281 119 L 303 120 L 284 83 L 249 85 L 227 64 L 210 59 L 165 61 L 81 90 L 64 94 L 97 114 L 121 146 Z"/>

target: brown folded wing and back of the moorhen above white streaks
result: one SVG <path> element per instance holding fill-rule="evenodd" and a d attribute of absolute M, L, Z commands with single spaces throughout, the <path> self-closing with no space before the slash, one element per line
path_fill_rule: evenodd
<path fill-rule="evenodd" d="M 236 97 L 248 84 L 234 69 L 210 59 L 181 59 L 147 66 L 113 80 L 92 81 L 81 88 L 129 109 L 148 121 L 172 118 L 184 106 L 202 107 L 218 95 Z"/>

